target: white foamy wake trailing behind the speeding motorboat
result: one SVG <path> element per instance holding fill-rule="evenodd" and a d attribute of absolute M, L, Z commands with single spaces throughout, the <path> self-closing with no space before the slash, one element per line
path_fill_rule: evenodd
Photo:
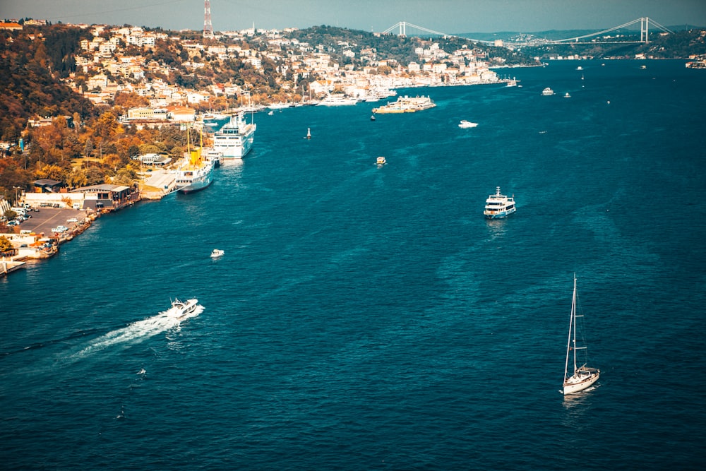
<path fill-rule="evenodd" d="M 88 354 L 100 352 L 113 345 L 133 344 L 142 342 L 158 333 L 165 332 L 169 329 L 179 329 L 181 322 L 188 318 L 196 317 L 203 312 L 203 306 L 198 305 L 196 309 L 181 318 L 168 316 L 166 312 L 160 312 L 157 316 L 146 318 L 143 321 L 137 321 L 124 328 L 112 330 L 111 332 L 101 335 L 99 338 L 92 340 L 87 347 L 83 347 L 79 352 L 73 354 L 73 357 L 85 357 Z"/>

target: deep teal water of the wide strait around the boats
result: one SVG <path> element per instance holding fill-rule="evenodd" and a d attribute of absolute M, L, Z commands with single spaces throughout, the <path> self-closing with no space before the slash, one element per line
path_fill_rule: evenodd
<path fill-rule="evenodd" d="M 0 467 L 702 469 L 706 71 L 498 73 L 254 114 L 208 189 L 1 278 Z M 564 396 L 574 276 L 601 377 Z"/>

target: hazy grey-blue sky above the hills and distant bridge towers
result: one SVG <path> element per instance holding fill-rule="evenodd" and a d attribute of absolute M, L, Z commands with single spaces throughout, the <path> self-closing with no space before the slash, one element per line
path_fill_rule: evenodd
<path fill-rule="evenodd" d="M 643 16 L 706 26 L 706 0 L 210 0 L 213 30 L 331 25 L 384 31 L 399 21 L 448 33 L 602 30 Z M 1 18 L 203 29 L 203 0 L 0 0 Z"/>

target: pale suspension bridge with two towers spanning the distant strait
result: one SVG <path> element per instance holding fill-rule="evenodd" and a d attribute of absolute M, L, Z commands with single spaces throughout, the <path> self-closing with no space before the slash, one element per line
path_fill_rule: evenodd
<path fill-rule="evenodd" d="M 637 23 L 640 23 L 640 40 L 639 41 L 628 41 L 628 40 L 619 40 L 618 38 L 614 38 L 616 40 L 611 40 L 611 41 L 602 41 L 602 43 L 610 43 L 610 44 L 634 44 L 634 43 L 647 43 L 650 42 L 650 25 L 652 28 L 656 28 L 657 30 L 661 30 L 662 32 L 668 32 L 668 33 L 673 33 L 673 31 L 669 30 L 668 28 L 665 28 L 664 26 L 660 25 L 657 23 L 657 21 L 652 20 L 652 18 L 647 18 L 647 17 L 642 17 L 642 18 L 637 18 L 632 21 L 628 21 L 628 23 L 623 23 L 622 25 L 614 26 L 613 28 L 608 28 L 607 30 L 602 30 L 602 31 L 597 31 L 597 32 L 592 32 L 587 35 L 582 35 L 582 36 L 574 36 L 574 37 L 568 37 L 563 40 L 534 40 L 534 41 L 527 41 L 527 42 L 513 42 L 513 46 L 536 46 L 536 45 L 551 45 L 551 44 L 593 44 L 595 41 L 592 41 L 591 38 L 596 38 L 602 35 L 608 35 L 611 32 L 615 32 L 618 30 L 623 30 L 624 28 L 629 28 L 630 26 L 636 25 Z M 441 32 L 441 31 L 435 31 L 435 30 L 430 30 L 429 28 L 424 28 L 423 26 L 418 26 L 418 25 L 413 25 L 412 23 L 407 23 L 407 21 L 400 21 L 396 23 L 395 25 L 390 26 L 390 28 L 386 29 L 383 31 L 383 34 L 397 34 L 400 36 L 407 36 L 407 28 L 409 28 L 412 32 L 418 31 L 419 33 L 417 34 L 412 34 L 412 35 L 421 35 L 421 34 L 427 34 L 427 35 L 435 35 L 435 36 L 442 36 L 442 37 L 460 37 L 465 40 L 470 40 L 473 42 L 481 42 L 484 44 L 494 44 L 495 41 L 486 41 L 486 40 L 474 40 L 470 37 L 465 37 L 465 36 L 460 36 L 460 35 L 452 35 L 448 34 L 446 32 Z M 395 33 L 397 31 L 397 33 Z"/>

